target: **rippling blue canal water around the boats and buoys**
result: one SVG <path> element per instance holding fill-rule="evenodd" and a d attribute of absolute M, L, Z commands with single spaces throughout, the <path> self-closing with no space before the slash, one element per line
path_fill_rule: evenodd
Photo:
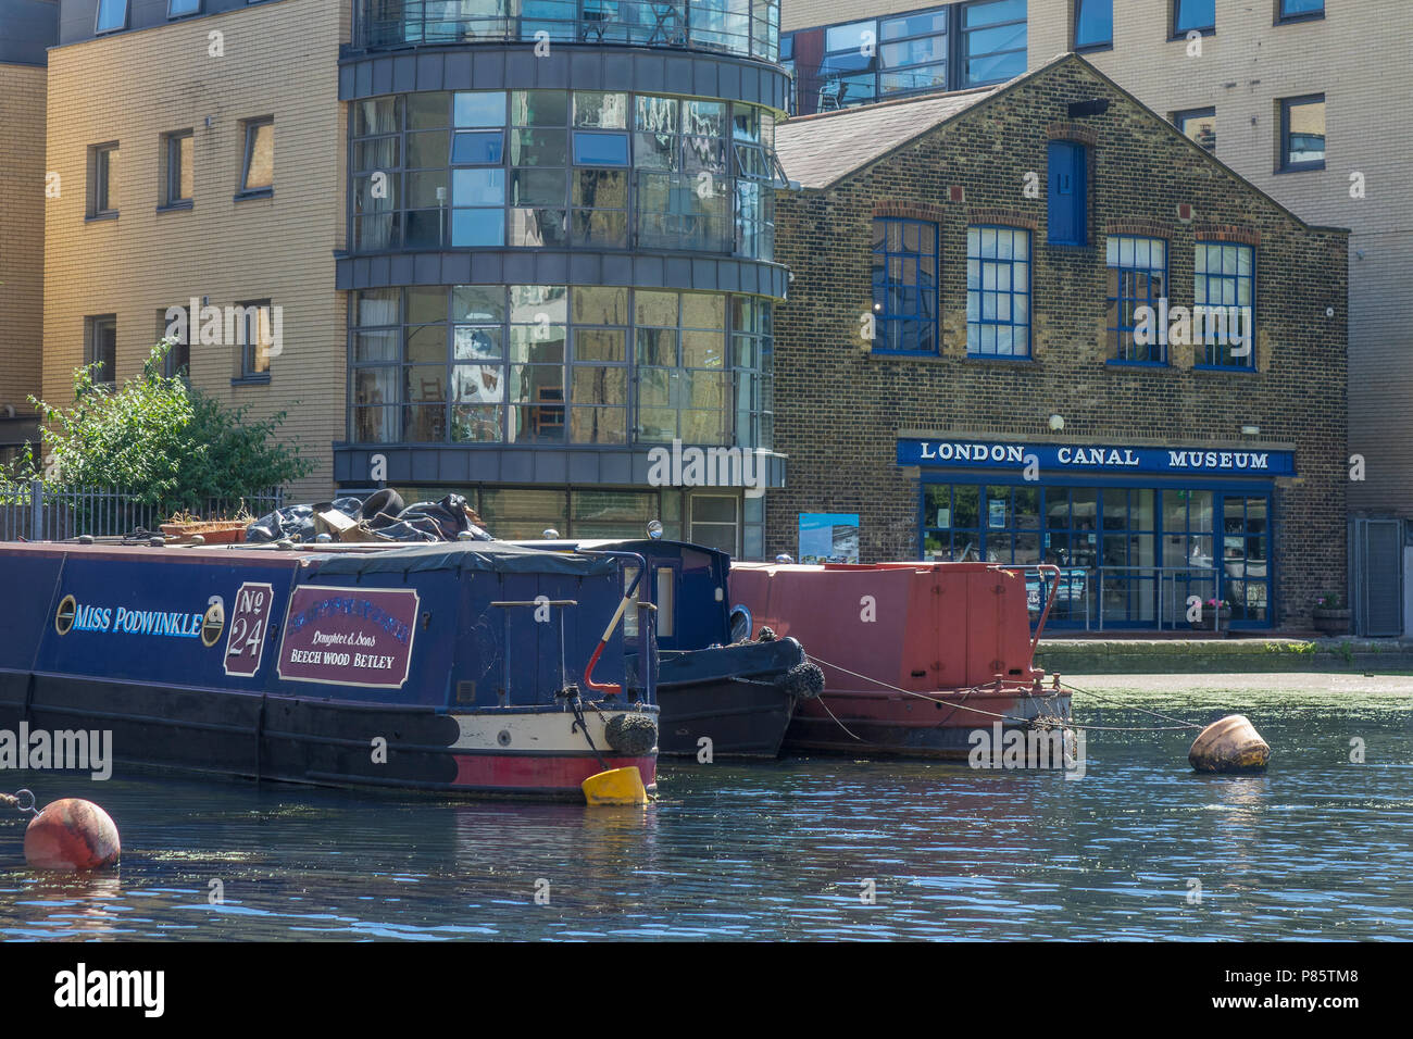
<path fill-rule="evenodd" d="M 1191 732 L 1111 731 L 1081 779 L 667 762 L 646 810 L 4 772 L 99 800 L 124 851 L 32 874 L 7 816 L 0 937 L 1413 939 L 1413 680 L 1075 684 L 1105 698 L 1075 697 L 1089 725 L 1242 711 L 1270 772 L 1197 776 Z"/>

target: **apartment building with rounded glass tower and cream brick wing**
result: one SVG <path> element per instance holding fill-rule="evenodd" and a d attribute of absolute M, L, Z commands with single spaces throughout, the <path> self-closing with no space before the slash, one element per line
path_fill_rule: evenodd
<path fill-rule="evenodd" d="M 61 7 L 47 393 L 185 307 L 174 365 L 288 414 L 294 495 L 762 553 L 776 0 Z"/>

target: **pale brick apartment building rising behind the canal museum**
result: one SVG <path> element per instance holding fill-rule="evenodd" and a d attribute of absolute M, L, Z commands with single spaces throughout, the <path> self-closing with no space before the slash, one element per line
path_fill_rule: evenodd
<path fill-rule="evenodd" d="M 1413 6 L 1388 0 L 786 0 L 800 113 L 998 82 L 1078 51 L 1282 205 L 1349 228 L 1351 591 L 1402 633 L 1413 529 Z M 1311 297 L 1323 286 L 1307 286 Z M 1334 383 L 1331 382 L 1331 392 Z M 1413 558 L 1409 560 L 1413 567 Z M 1402 614 L 1402 618 L 1400 618 Z"/>

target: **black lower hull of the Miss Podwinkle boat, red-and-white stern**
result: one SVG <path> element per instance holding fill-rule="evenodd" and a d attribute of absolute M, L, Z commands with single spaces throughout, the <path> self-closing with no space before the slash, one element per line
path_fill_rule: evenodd
<path fill-rule="evenodd" d="M 582 800 L 579 785 L 602 770 L 582 735 L 569 734 L 571 714 L 512 708 L 490 721 L 517 738 L 486 746 L 479 720 L 413 704 L 0 671 L 0 731 L 107 732 L 109 766 L 116 762 L 119 773 L 140 765 L 312 786 Z M 605 734 L 595 736 L 606 749 Z M 606 751 L 606 761 L 637 766 L 656 790 L 651 756 Z"/>

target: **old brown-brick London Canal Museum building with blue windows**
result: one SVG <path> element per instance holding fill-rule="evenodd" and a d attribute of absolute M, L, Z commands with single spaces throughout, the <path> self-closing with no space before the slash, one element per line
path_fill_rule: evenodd
<path fill-rule="evenodd" d="M 1198 595 L 1303 629 L 1345 587 L 1348 232 L 1077 55 L 793 119 L 777 147 L 801 189 L 767 553 L 856 515 L 863 560 L 1064 567 L 1080 628 L 1167 628 Z"/>

